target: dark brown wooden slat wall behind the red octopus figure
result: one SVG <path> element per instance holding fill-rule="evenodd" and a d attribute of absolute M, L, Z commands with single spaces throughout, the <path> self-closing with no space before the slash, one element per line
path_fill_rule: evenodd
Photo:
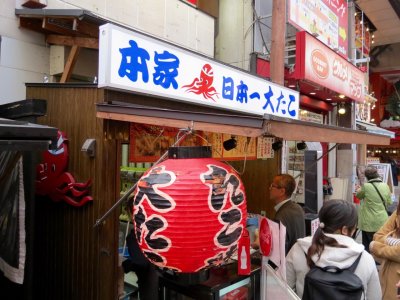
<path fill-rule="evenodd" d="M 93 203 L 81 208 L 36 199 L 34 290 L 37 299 L 116 299 L 118 216 L 115 211 L 98 229 L 93 225 L 118 199 L 117 139 L 127 139 L 126 123 L 96 118 L 97 87 L 28 86 L 27 98 L 47 100 L 39 123 L 67 133 L 69 168 L 77 182 L 93 180 Z M 96 139 L 96 157 L 81 152 Z"/>

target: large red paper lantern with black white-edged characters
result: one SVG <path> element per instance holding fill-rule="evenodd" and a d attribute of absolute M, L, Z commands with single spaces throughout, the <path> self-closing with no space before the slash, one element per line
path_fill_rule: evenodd
<path fill-rule="evenodd" d="M 220 161 L 170 158 L 139 180 L 133 214 L 136 238 L 150 261 L 197 272 L 237 250 L 247 219 L 245 190 L 235 170 Z"/>

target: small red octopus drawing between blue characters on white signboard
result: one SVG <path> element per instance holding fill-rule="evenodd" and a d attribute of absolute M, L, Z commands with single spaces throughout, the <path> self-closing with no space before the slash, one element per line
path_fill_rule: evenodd
<path fill-rule="evenodd" d="M 205 64 L 200 72 L 200 78 L 195 78 L 191 84 L 184 85 L 186 92 L 202 94 L 205 99 L 211 99 L 215 102 L 214 96 L 218 98 L 218 93 L 212 86 L 214 81 L 214 71 L 209 64 Z"/>

